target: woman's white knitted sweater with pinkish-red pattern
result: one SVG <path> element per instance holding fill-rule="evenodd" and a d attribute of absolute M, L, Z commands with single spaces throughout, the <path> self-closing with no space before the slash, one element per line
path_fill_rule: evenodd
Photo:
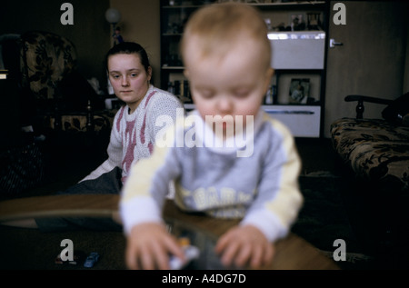
<path fill-rule="evenodd" d="M 175 122 L 176 108 L 183 108 L 179 99 L 152 84 L 134 113 L 128 114 L 128 105 L 121 107 L 115 114 L 108 159 L 81 181 L 95 179 L 117 166 L 122 169 L 122 182 L 125 183 L 132 164 L 151 155 L 155 135 L 164 128 L 155 125 L 156 118 L 168 115 Z"/>

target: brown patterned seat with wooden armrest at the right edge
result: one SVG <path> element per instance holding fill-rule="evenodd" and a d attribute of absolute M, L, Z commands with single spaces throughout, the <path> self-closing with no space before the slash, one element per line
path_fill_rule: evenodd
<path fill-rule="evenodd" d="M 356 118 L 331 125 L 332 144 L 352 189 L 344 189 L 356 233 L 365 247 L 390 253 L 409 240 L 409 93 L 396 100 L 349 95 Z M 364 102 L 385 104 L 383 118 L 364 118 Z M 399 247 L 399 248 L 398 248 Z"/>

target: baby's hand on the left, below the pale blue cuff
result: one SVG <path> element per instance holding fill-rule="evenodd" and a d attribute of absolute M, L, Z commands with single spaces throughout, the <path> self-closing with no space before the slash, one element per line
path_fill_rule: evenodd
<path fill-rule="evenodd" d="M 163 224 L 141 223 L 127 235 L 125 259 L 129 269 L 169 269 L 169 253 L 185 260 L 182 248 Z"/>

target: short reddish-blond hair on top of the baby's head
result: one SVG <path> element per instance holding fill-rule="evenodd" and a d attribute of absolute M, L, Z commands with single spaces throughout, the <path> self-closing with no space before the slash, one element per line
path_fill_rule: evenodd
<path fill-rule="evenodd" d="M 181 54 L 185 58 L 185 48 L 189 39 L 195 37 L 202 57 L 218 55 L 224 57 L 232 45 L 244 41 L 254 41 L 260 45 L 260 53 L 270 65 L 271 45 L 267 38 L 267 26 L 258 11 L 245 4 L 224 3 L 206 5 L 190 17 L 181 41 Z"/>

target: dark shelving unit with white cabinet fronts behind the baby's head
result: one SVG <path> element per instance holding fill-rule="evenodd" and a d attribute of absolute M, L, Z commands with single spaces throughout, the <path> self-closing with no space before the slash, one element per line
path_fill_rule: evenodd
<path fill-rule="evenodd" d="M 194 105 L 183 74 L 184 65 L 179 54 L 179 42 L 188 17 L 199 7 L 215 2 L 218 0 L 160 2 L 160 86 L 180 96 L 187 109 L 192 109 Z M 283 121 L 296 137 L 321 137 L 324 120 L 328 1 L 264 0 L 263 3 L 248 1 L 248 4 L 260 10 L 270 28 L 269 37 L 276 38 L 271 38 L 275 50 L 273 55 L 289 60 L 285 65 L 272 61 L 275 73 L 271 89 L 265 95 L 264 110 Z M 294 22 L 294 17 L 302 18 L 299 25 Z M 282 45 L 283 48 L 280 47 Z M 297 62 L 297 59 L 301 60 Z M 300 103 L 294 103 L 290 97 L 290 85 L 295 79 L 308 79 L 309 82 L 309 94 Z"/>

